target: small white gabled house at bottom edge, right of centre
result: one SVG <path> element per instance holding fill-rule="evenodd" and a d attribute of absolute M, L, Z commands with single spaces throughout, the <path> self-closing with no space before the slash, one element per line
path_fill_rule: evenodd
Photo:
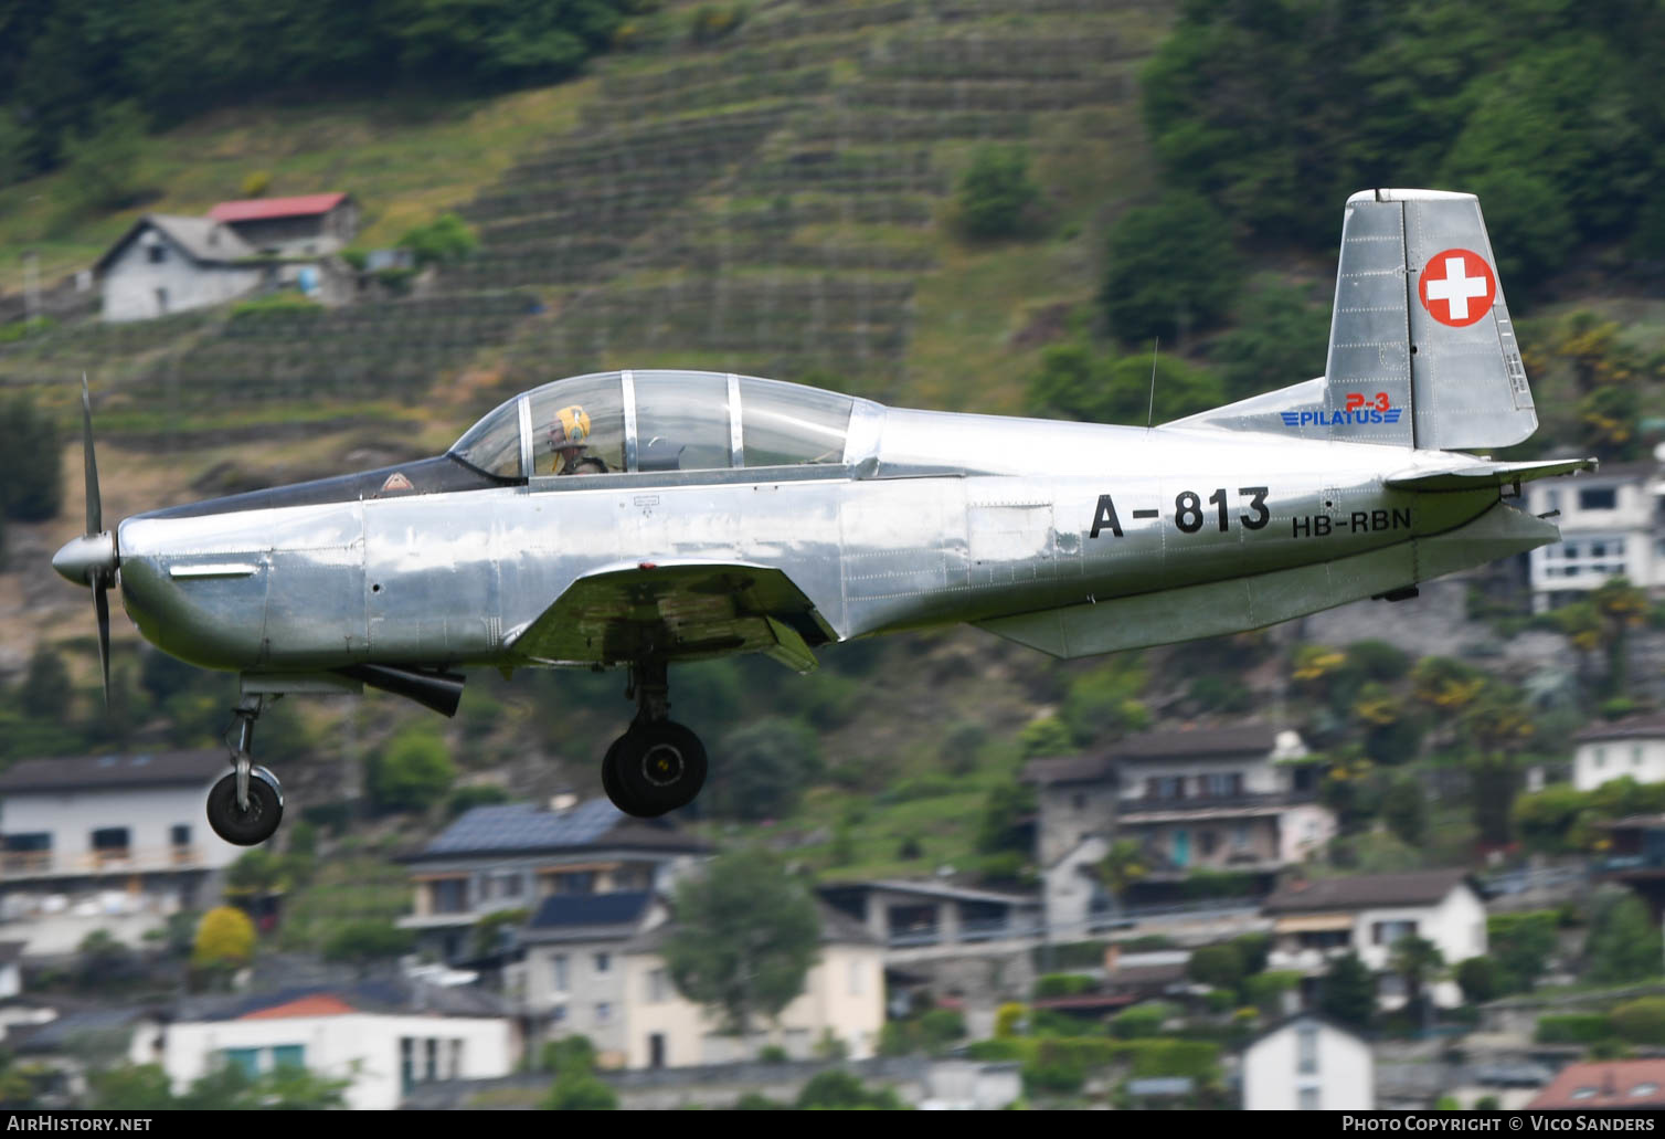
<path fill-rule="evenodd" d="M 1312 1012 L 1272 1026 L 1244 1049 L 1244 1111 L 1374 1111 L 1370 1046 Z"/>

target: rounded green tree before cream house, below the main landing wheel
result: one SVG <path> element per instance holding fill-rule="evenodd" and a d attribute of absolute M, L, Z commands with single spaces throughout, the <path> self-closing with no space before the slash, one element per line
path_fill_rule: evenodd
<path fill-rule="evenodd" d="M 809 893 L 763 851 L 729 851 L 676 889 L 664 962 L 678 991 L 749 1039 L 804 987 L 821 918 Z"/>

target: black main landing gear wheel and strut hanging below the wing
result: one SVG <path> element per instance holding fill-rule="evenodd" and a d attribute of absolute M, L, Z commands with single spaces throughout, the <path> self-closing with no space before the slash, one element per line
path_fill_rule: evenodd
<path fill-rule="evenodd" d="M 669 719 L 664 661 L 631 664 L 624 696 L 636 699 L 636 719 L 601 761 L 608 798 L 638 819 L 688 806 L 706 783 L 706 748 L 699 736 Z"/>

